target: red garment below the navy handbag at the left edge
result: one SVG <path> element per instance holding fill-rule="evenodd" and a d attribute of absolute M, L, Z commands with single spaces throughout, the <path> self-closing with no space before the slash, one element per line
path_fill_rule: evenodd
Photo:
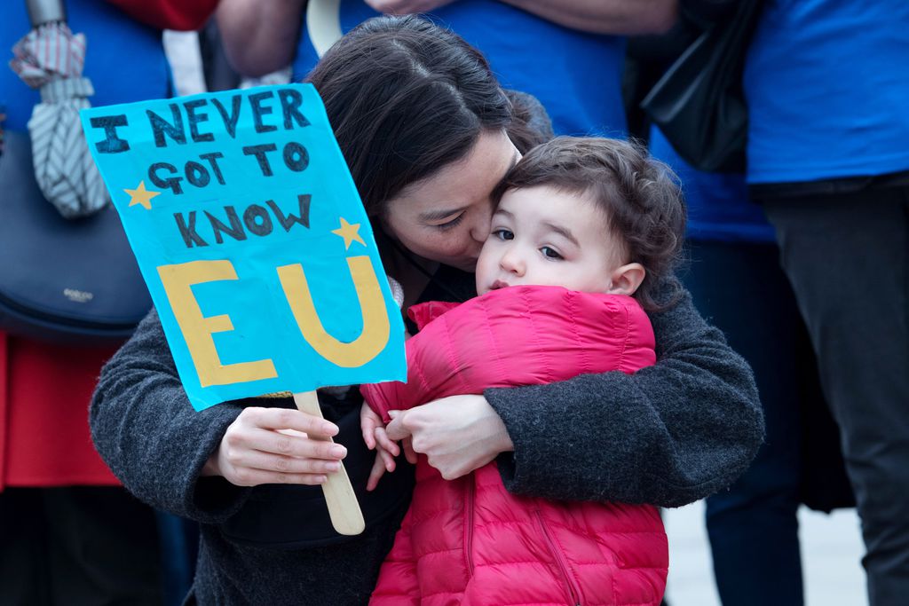
<path fill-rule="evenodd" d="M 120 484 L 95 452 L 88 430 L 88 402 L 116 349 L 0 333 L 0 491 Z"/>

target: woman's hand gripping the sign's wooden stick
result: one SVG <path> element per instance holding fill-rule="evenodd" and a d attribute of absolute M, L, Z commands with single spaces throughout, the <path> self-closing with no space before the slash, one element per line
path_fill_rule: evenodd
<path fill-rule="evenodd" d="M 305 412 L 246 408 L 227 428 L 202 475 L 221 475 L 237 486 L 322 484 L 347 454 L 341 444 L 324 442 L 337 432 L 334 423 Z"/>

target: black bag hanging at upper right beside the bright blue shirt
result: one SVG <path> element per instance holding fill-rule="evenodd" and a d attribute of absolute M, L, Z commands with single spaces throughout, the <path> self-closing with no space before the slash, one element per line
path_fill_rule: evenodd
<path fill-rule="evenodd" d="M 728 19 L 708 27 L 641 103 L 675 151 L 699 170 L 744 171 L 742 70 L 760 4 L 741 0 Z"/>

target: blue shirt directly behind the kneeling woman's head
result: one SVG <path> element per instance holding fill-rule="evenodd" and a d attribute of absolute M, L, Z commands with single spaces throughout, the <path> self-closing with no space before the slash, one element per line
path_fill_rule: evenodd
<path fill-rule="evenodd" d="M 378 15 L 362 0 L 341 0 L 340 11 L 343 32 Z M 623 37 L 578 32 L 492 0 L 459 0 L 435 9 L 431 18 L 478 48 L 505 88 L 539 99 L 555 134 L 625 135 Z M 304 27 L 295 80 L 316 61 Z"/>

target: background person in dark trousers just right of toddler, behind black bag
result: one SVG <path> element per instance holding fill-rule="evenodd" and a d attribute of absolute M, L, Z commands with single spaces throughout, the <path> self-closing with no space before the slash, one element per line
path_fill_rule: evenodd
<path fill-rule="evenodd" d="M 764 408 L 766 442 L 751 467 L 728 491 L 706 500 L 718 593 L 730 606 L 800 606 L 798 508 L 804 503 L 830 512 L 854 506 L 854 498 L 774 228 L 749 198 L 744 172 L 694 169 L 659 128 L 635 114 L 642 89 L 704 28 L 727 26 L 738 5 L 737 0 L 683 0 L 682 18 L 672 32 L 638 37 L 629 45 L 625 94 L 632 124 L 644 122 L 638 134 L 649 138 L 652 153 L 670 164 L 683 184 L 690 262 L 681 277 L 698 309 L 752 365 Z"/>

